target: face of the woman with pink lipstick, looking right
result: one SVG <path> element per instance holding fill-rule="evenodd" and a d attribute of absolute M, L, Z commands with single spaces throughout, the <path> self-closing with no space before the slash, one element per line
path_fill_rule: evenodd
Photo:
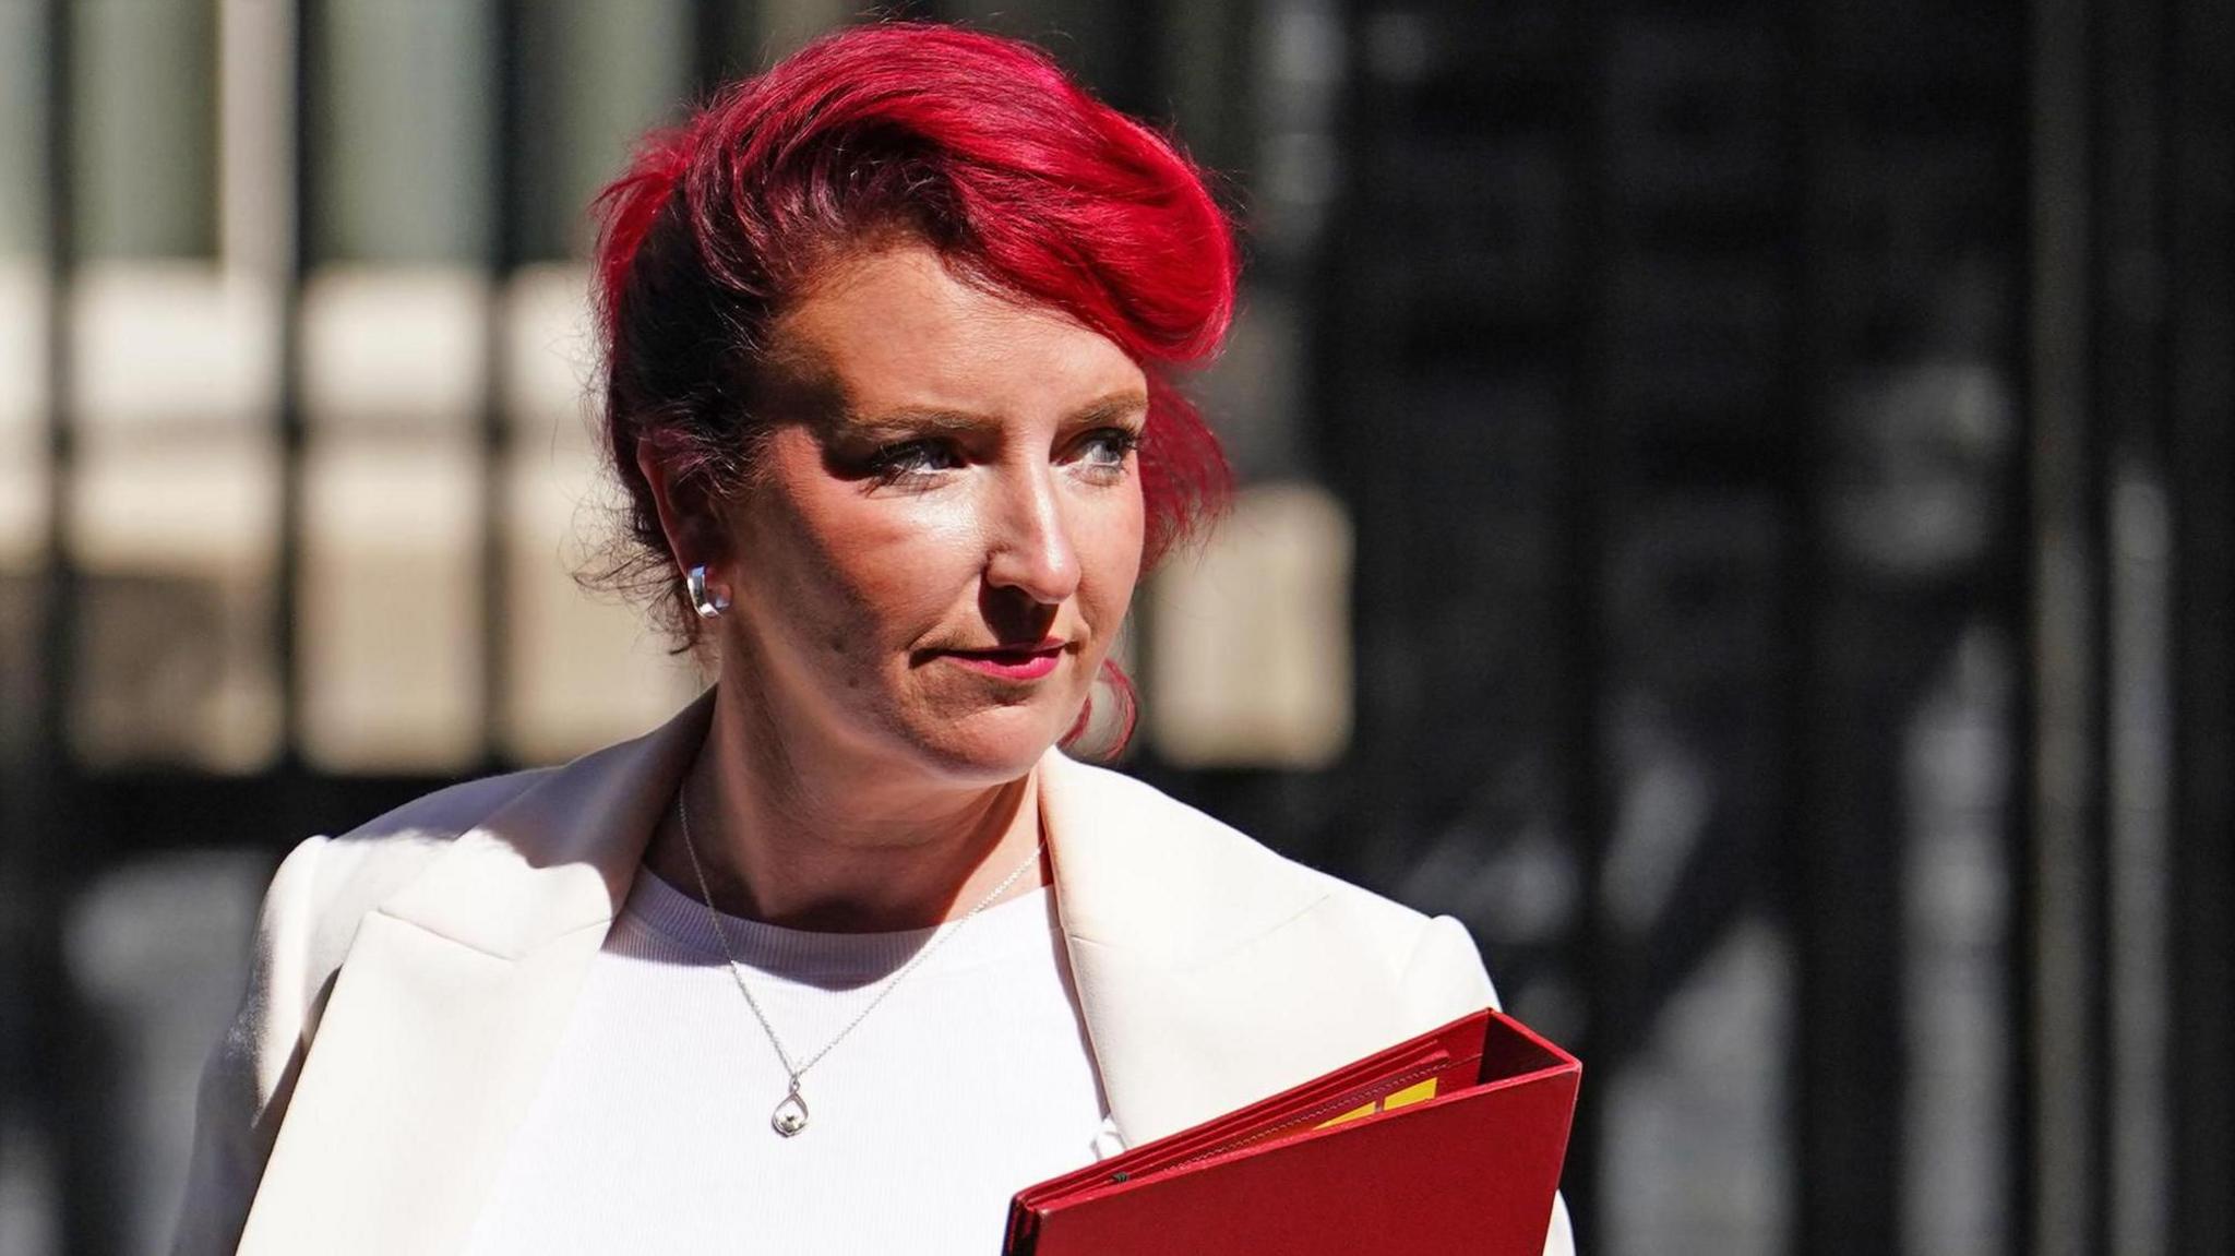
<path fill-rule="evenodd" d="M 720 521 L 724 670 L 791 753 L 1021 776 L 1133 597 L 1147 378 L 921 244 L 834 261 L 769 349 L 767 443 Z"/>

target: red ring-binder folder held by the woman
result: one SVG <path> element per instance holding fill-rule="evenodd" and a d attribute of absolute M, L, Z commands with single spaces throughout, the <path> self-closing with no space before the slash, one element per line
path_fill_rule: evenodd
<path fill-rule="evenodd" d="M 1004 1256 L 1542 1256 L 1580 1077 L 1486 1008 L 1026 1187 Z"/>

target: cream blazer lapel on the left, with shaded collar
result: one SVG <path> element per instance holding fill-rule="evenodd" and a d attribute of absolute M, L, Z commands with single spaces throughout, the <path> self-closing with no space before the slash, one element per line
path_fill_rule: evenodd
<path fill-rule="evenodd" d="M 465 1240 L 711 704 L 543 778 L 364 916 L 241 1252 Z"/>

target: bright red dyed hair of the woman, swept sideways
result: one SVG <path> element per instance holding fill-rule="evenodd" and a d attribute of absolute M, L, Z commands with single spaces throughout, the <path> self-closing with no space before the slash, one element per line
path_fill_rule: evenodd
<path fill-rule="evenodd" d="M 597 212 L 606 438 L 630 543 L 606 583 L 666 594 L 686 641 L 700 621 L 637 451 L 655 443 L 686 492 L 740 487 L 760 431 L 742 398 L 771 322 L 818 264 L 881 232 L 1066 311 L 1142 367 L 1144 568 L 1227 503 L 1218 440 L 1171 382 L 1225 340 L 1227 217 L 1171 141 L 1030 45 L 923 22 L 825 36 L 646 136 Z"/>

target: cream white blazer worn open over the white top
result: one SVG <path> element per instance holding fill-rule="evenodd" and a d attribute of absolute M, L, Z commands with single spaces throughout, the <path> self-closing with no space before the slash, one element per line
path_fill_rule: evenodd
<path fill-rule="evenodd" d="M 203 1075 L 181 1256 L 463 1243 L 711 708 L 708 693 L 561 769 L 458 784 L 295 847 Z M 1124 776 L 1055 751 L 1039 771 L 1057 916 L 1122 1144 L 1493 999 L 1457 921 Z M 1547 1254 L 1571 1252 L 1556 1207 Z"/>

